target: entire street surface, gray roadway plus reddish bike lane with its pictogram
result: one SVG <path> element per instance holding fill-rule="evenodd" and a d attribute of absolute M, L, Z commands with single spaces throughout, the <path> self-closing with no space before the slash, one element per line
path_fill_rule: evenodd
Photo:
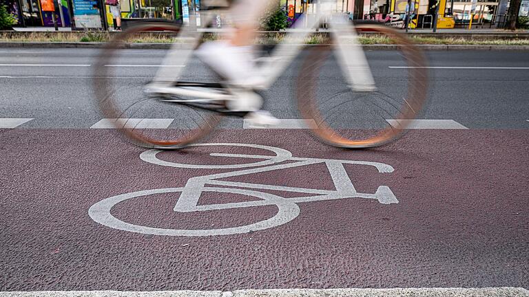
<path fill-rule="evenodd" d="M 361 151 L 240 119 L 209 145 L 132 146 L 90 129 L 96 54 L 0 51 L 0 291 L 529 288 L 526 52 L 428 52 L 446 67 L 422 115 L 435 129 Z M 299 117 L 294 68 L 267 94 L 278 118 Z"/>

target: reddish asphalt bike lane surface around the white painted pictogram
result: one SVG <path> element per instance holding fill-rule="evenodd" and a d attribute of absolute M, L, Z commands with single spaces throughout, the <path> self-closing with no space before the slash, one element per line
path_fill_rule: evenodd
<path fill-rule="evenodd" d="M 107 197 L 185 186 L 240 169 L 174 168 L 111 131 L 0 130 L 0 291 L 234 290 L 334 287 L 529 287 L 529 130 L 411 131 L 382 148 L 348 151 L 306 131 L 217 131 L 205 142 L 284 148 L 294 157 L 345 164 L 358 192 L 388 186 L 399 203 L 331 199 L 298 203 L 295 219 L 224 236 L 158 236 L 96 223 Z M 159 153 L 169 162 L 234 164 L 258 148 L 201 147 Z M 292 161 L 287 161 L 289 163 Z M 222 179 L 333 190 L 325 164 Z M 260 190 L 282 197 L 303 193 Z M 137 225 L 211 229 L 273 217 L 276 206 L 174 212 L 179 193 L 123 201 L 115 217 Z M 198 205 L 258 200 L 205 192 Z"/>

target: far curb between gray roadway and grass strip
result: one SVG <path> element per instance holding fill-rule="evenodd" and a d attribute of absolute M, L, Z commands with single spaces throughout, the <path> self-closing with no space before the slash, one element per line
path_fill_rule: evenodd
<path fill-rule="evenodd" d="M 40 43 L 40 42 L 0 42 L 0 48 L 101 48 L 105 43 Z M 168 50 L 171 47 L 191 50 L 187 43 L 125 43 L 125 49 Z M 322 45 L 305 45 L 307 47 Z M 396 50 L 398 45 L 362 45 L 364 50 Z M 529 45 L 417 45 L 422 50 L 484 50 L 484 51 L 529 51 Z"/>

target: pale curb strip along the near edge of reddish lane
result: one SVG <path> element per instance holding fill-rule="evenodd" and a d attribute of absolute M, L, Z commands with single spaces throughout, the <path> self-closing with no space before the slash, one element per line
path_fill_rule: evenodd
<path fill-rule="evenodd" d="M 43 291 L 0 292 L 0 297 L 528 297 L 519 287 L 395 289 L 262 289 L 222 291 Z"/>

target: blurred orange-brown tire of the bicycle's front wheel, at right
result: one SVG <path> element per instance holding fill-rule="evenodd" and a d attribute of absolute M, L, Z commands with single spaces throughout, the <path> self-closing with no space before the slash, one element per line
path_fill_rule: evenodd
<path fill-rule="evenodd" d="M 389 115 L 389 111 L 384 111 L 386 114 L 380 115 L 380 124 L 382 125 L 382 120 L 385 120 L 386 126 L 383 128 L 381 127 L 380 129 L 364 127 L 362 128 L 363 130 L 353 128 L 344 129 L 343 126 L 338 128 L 329 123 L 329 120 L 327 120 L 327 118 L 329 118 L 328 115 L 322 114 L 322 107 L 318 106 L 317 80 L 318 73 L 321 71 L 325 59 L 329 57 L 331 45 L 321 45 L 309 49 L 309 54 L 300 67 L 296 97 L 298 109 L 300 110 L 302 118 L 313 120 L 313 122 L 309 122 L 309 126 L 311 127 L 312 133 L 320 140 L 327 144 L 331 144 L 332 146 L 342 148 L 370 148 L 397 140 L 397 138 L 402 136 L 408 126 L 413 122 L 412 120 L 419 115 L 426 102 L 428 72 L 426 67 L 424 67 L 426 65 L 426 58 L 422 51 L 397 30 L 384 25 L 373 24 L 355 25 L 355 29 L 358 32 L 378 32 L 390 36 L 395 42 L 395 47 L 397 47 L 402 53 L 406 65 L 411 66 L 403 68 L 408 71 L 408 81 L 406 82 L 407 94 L 402 98 L 402 102 L 388 102 L 390 100 L 384 98 L 386 94 L 377 94 L 377 96 L 381 97 L 377 100 L 380 100 L 381 102 L 386 101 L 382 104 L 388 106 L 388 109 L 395 109 L 396 114 L 393 116 Z M 357 97 L 360 97 L 361 95 L 362 94 L 360 93 L 355 94 Z M 366 104 L 376 105 L 377 103 L 366 102 Z M 396 111 L 396 109 L 398 109 L 398 111 Z M 385 118 L 391 118 L 383 119 L 382 116 Z M 343 124 L 346 120 L 354 119 L 342 116 L 342 118 L 337 121 L 340 121 L 340 124 Z M 393 123 L 393 125 L 391 123 Z M 344 125 L 346 125 L 346 123 Z"/>

